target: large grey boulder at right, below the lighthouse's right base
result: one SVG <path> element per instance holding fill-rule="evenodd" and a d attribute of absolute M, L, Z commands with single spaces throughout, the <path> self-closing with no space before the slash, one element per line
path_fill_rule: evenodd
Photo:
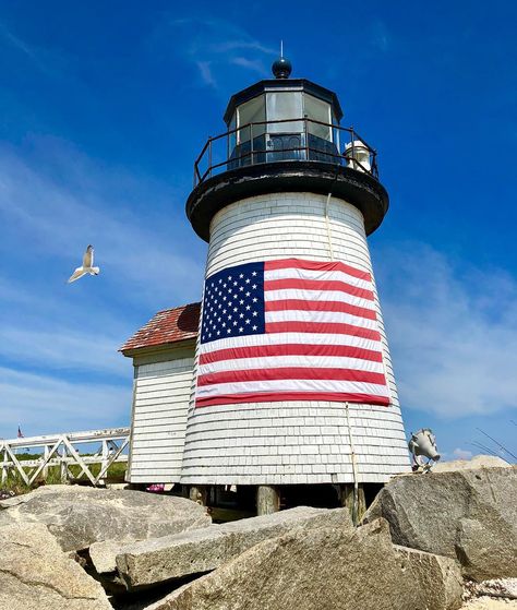
<path fill-rule="evenodd" d="M 458 559 L 474 581 L 517 576 L 517 467 L 393 479 L 363 523 L 384 517 L 393 541 Z"/>

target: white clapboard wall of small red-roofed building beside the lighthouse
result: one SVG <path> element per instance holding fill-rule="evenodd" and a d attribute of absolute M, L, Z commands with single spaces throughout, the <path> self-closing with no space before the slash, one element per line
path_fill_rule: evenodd
<path fill-rule="evenodd" d="M 194 345 L 171 349 L 153 362 L 135 358 L 129 481 L 173 483 L 180 480 L 192 387 Z"/>

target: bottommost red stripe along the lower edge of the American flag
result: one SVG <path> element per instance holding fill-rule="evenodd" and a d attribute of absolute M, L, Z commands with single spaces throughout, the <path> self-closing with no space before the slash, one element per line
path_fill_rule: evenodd
<path fill-rule="evenodd" d="M 330 403 L 365 403 L 368 405 L 389 406 L 389 398 L 375 394 L 339 394 L 336 392 L 264 392 L 263 394 L 221 394 L 207 398 L 196 398 L 196 407 L 235 405 L 239 403 L 269 403 L 278 400 L 328 400 Z"/>

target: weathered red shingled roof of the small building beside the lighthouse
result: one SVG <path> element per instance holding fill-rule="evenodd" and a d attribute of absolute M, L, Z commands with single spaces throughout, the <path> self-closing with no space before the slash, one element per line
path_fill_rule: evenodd
<path fill-rule="evenodd" d="M 119 351 L 195 339 L 201 303 L 158 311 L 145 326 L 129 338 Z"/>

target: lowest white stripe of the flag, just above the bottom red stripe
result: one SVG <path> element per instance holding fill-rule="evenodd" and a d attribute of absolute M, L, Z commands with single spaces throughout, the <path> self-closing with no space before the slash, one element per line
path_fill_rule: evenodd
<path fill-rule="evenodd" d="M 281 397 L 282 392 L 322 392 L 339 394 L 370 394 L 389 397 L 385 385 L 358 381 L 334 381 L 334 380 L 303 380 L 285 379 L 273 381 L 245 381 L 235 383 L 216 383 L 214 385 L 197 386 L 196 396 L 209 398 L 221 394 L 260 394 L 263 392 L 277 392 Z M 253 403 L 253 396 L 250 397 Z"/>

